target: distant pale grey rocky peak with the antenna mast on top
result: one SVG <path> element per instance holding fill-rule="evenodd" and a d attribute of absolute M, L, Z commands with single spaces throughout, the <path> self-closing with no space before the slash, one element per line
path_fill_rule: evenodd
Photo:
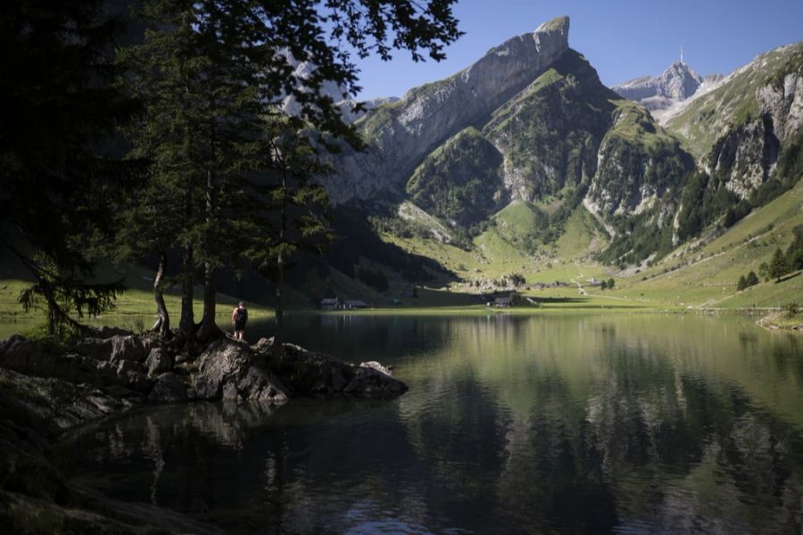
<path fill-rule="evenodd" d="M 702 82 L 703 78 L 689 65 L 677 61 L 658 76 L 635 78 L 613 90 L 650 111 L 659 111 L 694 95 Z"/>

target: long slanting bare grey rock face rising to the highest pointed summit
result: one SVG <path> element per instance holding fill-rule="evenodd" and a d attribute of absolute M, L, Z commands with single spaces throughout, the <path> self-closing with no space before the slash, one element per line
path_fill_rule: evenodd
<path fill-rule="evenodd" d="M 334 202 L 366 199 L 402 185 L 428 152 L 463 128 L 486 118 L 567 50 L 567 17 L 491 49 L 468 69 L 411 89 L 361 121 L 371 140 L 367 152 L 338 159 L 338 176 L 327 184 Z"/>

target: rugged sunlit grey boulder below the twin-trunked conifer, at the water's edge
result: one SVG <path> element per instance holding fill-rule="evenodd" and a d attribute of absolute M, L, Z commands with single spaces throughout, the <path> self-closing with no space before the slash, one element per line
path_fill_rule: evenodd
<path fill-rule="evenodd" d="M 283 403 L 287 391 L 259 366 L 250 347 L 228 339 L 212 342 L 198 358 L 193 388 L 197 399 L 252 399 Z"/>

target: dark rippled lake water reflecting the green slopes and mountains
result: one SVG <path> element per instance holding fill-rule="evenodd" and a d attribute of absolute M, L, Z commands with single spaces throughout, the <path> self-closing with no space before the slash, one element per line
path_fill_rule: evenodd
<path fill-rule="evenodd" d="M 153 408 L 68 437 L 63 465 L 242 533 L 803 530 L 803 338 L 658 315 L 291 324 L 410 392 Z"/>

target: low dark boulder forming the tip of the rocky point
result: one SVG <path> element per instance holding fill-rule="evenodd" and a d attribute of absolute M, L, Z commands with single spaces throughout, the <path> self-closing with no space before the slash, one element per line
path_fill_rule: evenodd
<path fill-rule="evenodd" d="M 285 344 L 282 355 L 277 357 L 270 350 L 271 347 L 271 341 L 263 339 L 257 342 L 254 349 L 263 356 L 269 370 L 281 377 L 296 395 L 343 394 L 366 399 L 390 399 L 408 391 L 405 383 L 373 366 L 354 366 L 289 343 Z M 387 370 L 377 362 L 374 364 Z"/>

